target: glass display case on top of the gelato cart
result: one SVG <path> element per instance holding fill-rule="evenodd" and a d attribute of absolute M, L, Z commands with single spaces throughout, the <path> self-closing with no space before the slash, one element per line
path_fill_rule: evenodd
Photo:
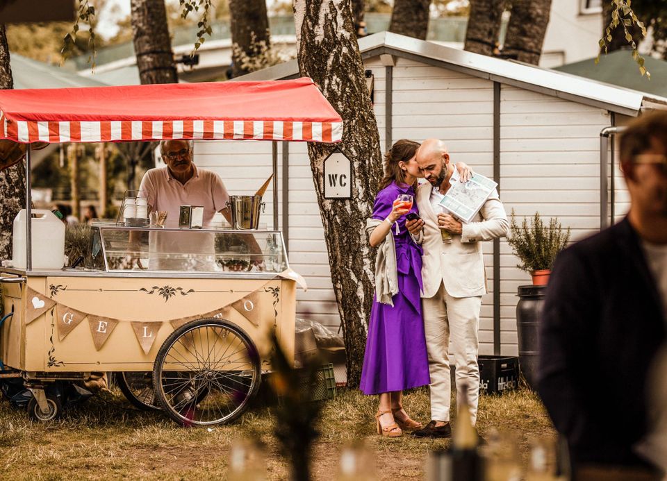
<path fill-rule="evenodd" d="M 283 237 L 273 230 L 92 225 L 92 267 L 108 272 L 280 273 Z"/>

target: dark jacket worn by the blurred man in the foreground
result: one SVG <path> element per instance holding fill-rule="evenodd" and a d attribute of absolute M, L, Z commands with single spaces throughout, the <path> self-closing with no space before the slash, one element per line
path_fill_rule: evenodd
<path fill-rule="evenodd" d="M 629 221 L 563 251 L 540 328 L 538 391 L 573 464 L 642 465 L 647 375 L 664 342 L 660 297 Z"/>

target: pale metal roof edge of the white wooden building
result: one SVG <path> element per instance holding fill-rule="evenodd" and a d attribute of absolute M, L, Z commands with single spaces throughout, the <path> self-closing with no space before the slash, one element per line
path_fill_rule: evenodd
<path fill-rule="evenodd" d="M 642 92 L 563 74 L 559 71 L 452 49 L 396 33 L 381 32 L 363 37 L 359 40 L 359 49 L 364 58 L 390 53 L 398 57 L 411 58 L 429 65 L 461 71 L 472 76 L 488 78 L 491 81 L 522 87 L 526 90 L 604 108 L 624 115 L 638 115 L 644 97 Z M 298 74 L 297 61 L 290 60 L 290 62 L 274 65 L 234 80 L 270 80 L 289 78 L 298 76 Z"/>

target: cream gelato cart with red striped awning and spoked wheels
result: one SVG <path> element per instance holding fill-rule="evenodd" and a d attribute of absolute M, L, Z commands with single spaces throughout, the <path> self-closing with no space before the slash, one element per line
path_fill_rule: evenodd
<path fill-rule="evenodd" d="M 309 78 L 0 91 L 0 139 L 28 145 L 26 219 L 35 217 L 35 142 L 338 142 L 342 129 Z M 25 222 L 22 267 L 1 269 L 0 381 L 22 380 L 33 418 L 60 414 L 53 385 L 99 371 L 118 373 L 133 403 L 185 425 L 242 414 L 270 370 L 267 333 L 293 356 L 295 292 L 303 285 L 277 228 L 276 155 L 273 165 L 269 229 L 99 221 L 88 266 L 45 269 L 33 263 L 44 240 L 34 221 Z M 160 237 L 210 248 L 160 249 Z"/>

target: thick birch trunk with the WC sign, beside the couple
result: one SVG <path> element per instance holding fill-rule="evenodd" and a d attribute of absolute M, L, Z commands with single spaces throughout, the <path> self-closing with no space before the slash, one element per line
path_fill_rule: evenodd
<path fill-rule="evenodd" d="M 343 142 L 338 148 L 352 163 L 352 199 L 324 199 L 324 159 L 334 145 L 308 144 L 308 156 L 331 280 L 343 323 L 347 349 L 347 382 L 359 385 L 366 330 L 373 298 L 374 250 L 365 233 L 373 210 L 382 157 L 377 123 L 365 85 L 363 63 L 349 0 L 295 0 L 297 60 L 302 76 L 320 85 L 329 103 L 343 117 Z"/>

